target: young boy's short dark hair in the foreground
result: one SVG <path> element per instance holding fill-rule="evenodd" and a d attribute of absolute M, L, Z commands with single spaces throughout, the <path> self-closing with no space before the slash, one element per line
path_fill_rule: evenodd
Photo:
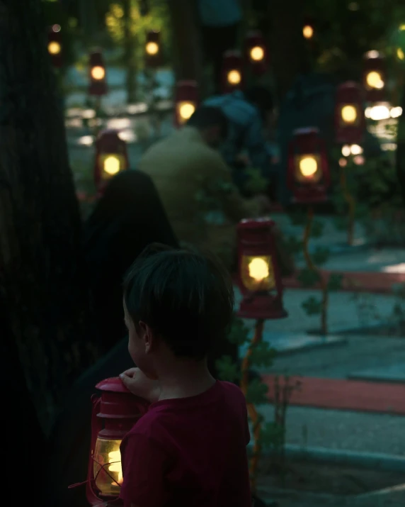
<path fill-rule="evenodd" d="M 225 340 L 234 309 L 232 279 L 212 255 L 149 245 L 125 275 L 124 301 L 178 357 L 202 360 Z"/>

